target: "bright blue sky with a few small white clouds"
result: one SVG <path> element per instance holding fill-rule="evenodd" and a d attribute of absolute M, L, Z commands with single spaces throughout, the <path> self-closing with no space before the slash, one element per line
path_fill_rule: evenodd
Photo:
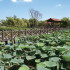
<path fill-rule="evenodd" d="M 30 18 L 29 10 L 42 14 L 41 20 L 70 17 L 70 0 L 0 0 L 0 20 L 6 17 Z"/>

